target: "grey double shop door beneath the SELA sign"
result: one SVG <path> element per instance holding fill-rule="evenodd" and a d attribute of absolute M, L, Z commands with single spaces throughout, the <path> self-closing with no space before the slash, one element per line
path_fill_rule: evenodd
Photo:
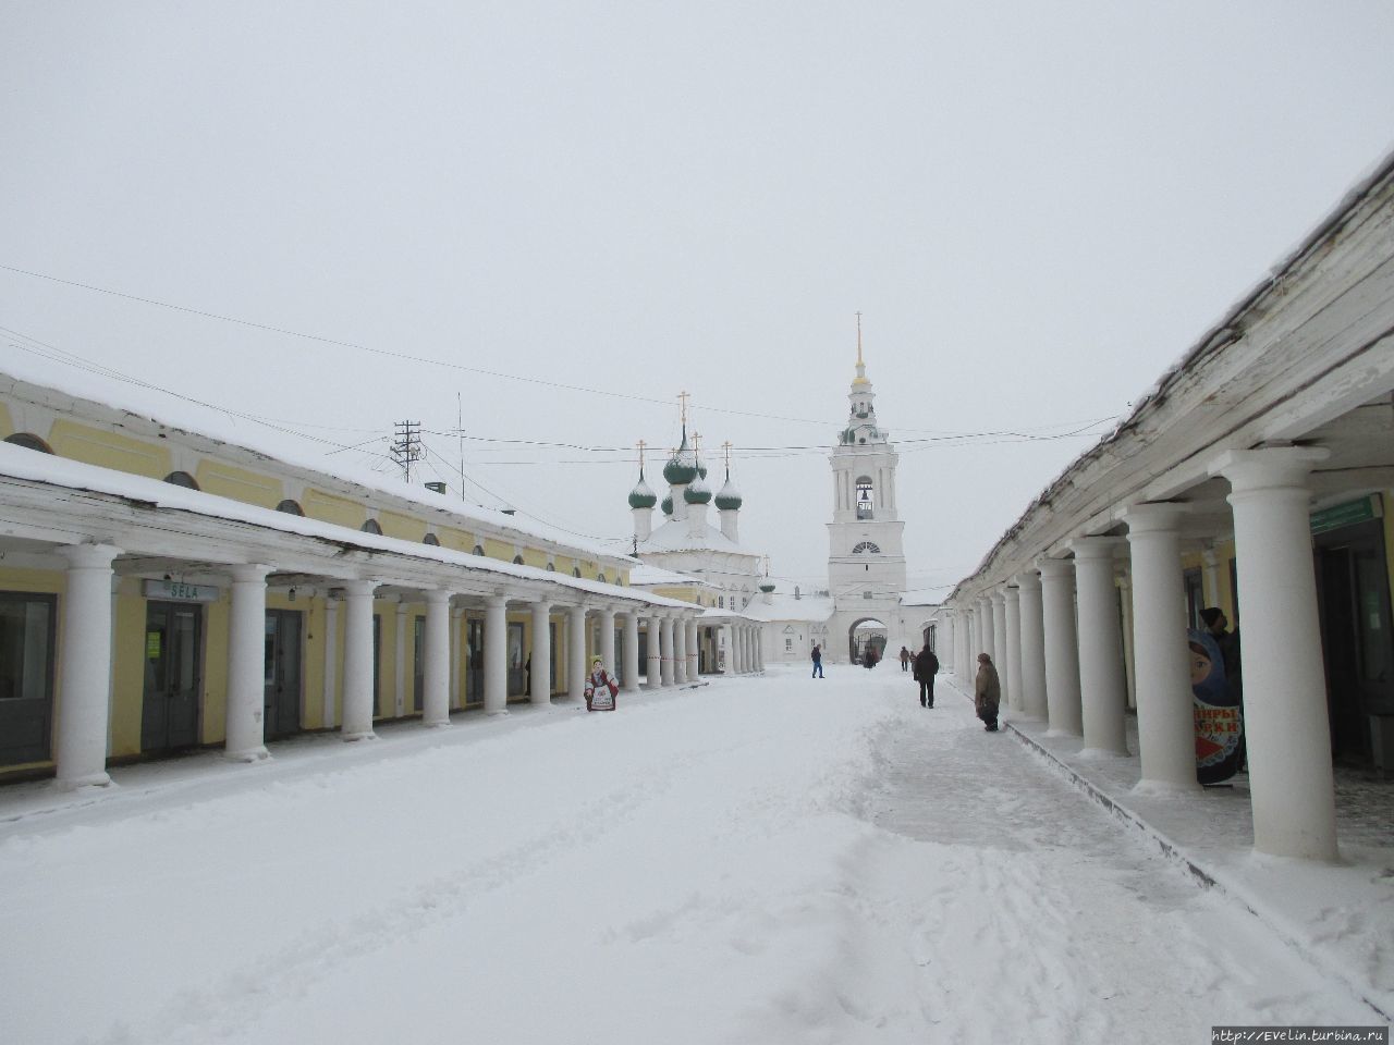
<path fill-rule="evenodd" d="M 204 683 L 204 607 L 183 602 L 145 605 L 145 701 L 141 751 L 198 744 Z"/>

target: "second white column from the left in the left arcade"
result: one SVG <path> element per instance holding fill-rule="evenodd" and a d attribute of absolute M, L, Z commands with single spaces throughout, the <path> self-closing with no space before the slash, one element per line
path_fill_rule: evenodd
<path fill-rule="evenodd" d="M 256 762 L 266 752 L 266 566 L 234 566 L 227 619 L 223 757 Z"/>

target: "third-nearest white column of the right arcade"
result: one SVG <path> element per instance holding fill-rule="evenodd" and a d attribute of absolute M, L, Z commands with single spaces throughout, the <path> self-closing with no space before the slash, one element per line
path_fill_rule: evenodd
<path fill-rule="evenodd" d="M 1083 701 L 1085 751 L 1128 754 L 1124 645 L 1114 588 L 1115 536 L 1069 542 L 1079 592 L 1079 690 Z"/>

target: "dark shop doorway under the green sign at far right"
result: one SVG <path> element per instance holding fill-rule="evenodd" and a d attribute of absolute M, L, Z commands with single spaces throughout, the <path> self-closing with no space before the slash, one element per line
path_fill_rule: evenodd
<path fill-rule="evenodd" d="M 1316 539 L 1331 752 L 1369 762 L 1372 716 L 1394 715 L 1394 630 L 1380 522 Z"/>

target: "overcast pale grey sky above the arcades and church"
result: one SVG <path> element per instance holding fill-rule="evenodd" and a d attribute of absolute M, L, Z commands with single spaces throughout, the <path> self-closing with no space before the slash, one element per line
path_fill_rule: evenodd
<path fill-rule="evenodd" d="M 1126 411 L 1394 142 L 1391 59 L 1387 0 L 6 3 L 0 266 L 328 340 L 8 269 L 0 326 L 376 451 L 459 393 L 466 497 L 597 538 L 633 450 L 572 447 L 686 390 L 815 587 L 860 311 L 948 585 L 1092 440 L 937 436 Z"/>

